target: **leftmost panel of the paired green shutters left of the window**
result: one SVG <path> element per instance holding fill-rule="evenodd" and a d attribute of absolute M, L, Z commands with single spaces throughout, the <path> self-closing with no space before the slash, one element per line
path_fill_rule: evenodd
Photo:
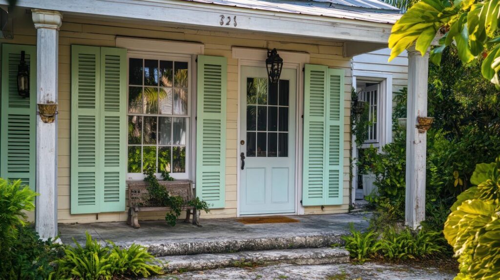
<path fill-rule="evenodd" d="M 100 48 L 71 46 L 71 214 L 99 212 Z"/>

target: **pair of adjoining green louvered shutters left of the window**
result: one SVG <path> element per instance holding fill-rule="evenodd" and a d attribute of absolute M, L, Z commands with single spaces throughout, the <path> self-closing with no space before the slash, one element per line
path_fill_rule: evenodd
<path fill-rule="evenodd" d="M 71 214 L 124 211 L 126 50 L 71 52 Z"/>

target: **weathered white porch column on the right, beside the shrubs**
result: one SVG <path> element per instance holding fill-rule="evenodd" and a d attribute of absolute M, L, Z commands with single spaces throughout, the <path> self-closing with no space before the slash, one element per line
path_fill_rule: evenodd
<path fill-rule="evenodd" d="M 406 110 L 406 205 L 405 224 L 416 229 L 425 220 L 426 133 L 415 127 L 417 117 L 427 116 L 428 51 L 421 55 L 408 48 L 408 101 Z"/>

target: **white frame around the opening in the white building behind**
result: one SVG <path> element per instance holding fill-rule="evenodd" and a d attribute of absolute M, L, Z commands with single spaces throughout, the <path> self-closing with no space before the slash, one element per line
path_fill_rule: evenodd
<path fill-rule="evenodd" d="M 352 70 L 352 87 L 354 91 L 357 92 L 356 80 L 367 80 L 380 83 L 380 94 L 378 102 L 379 107 L 377 108 L 377 113 L 379 114 L 381 129 L 380 129 L 380 141 L 379 141 L 379 151 L 381 151 L 382 146 L 387 143 L 392 142 L 392 74 L 388 72 L 369 72 L 369 71 L 359 71 Z M 352 135 L 351 139 L 351 155 L 352 155 L 352 186 L 351 186 L 351 204 L 354 204 L 356 198 L 356 186 L 357 186 L 357 147 L 355 143 L 356 137 Z"/>

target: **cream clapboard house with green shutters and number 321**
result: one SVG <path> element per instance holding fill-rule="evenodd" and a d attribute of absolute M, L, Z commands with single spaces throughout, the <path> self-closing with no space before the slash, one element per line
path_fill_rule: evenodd
<path fill-rule="evenodd" d="M 0 176 L 40 193 L 34 219 L 43 238 L 57 223 L 125 221 L 126 183 L 150 167 L 192 181 L 212 209 L 203 218 L 348 211 L 351 57 L 386 47 L 394 7 L 0 4 Z M 272 49 L 283 60 L 276 83 L 267 82 Z M 409 65 L 425 67 L 410 76 L 426 83 L 426 58 L 411 55 Z M 22 63 L 28 97 L 16 87 Z"/>

